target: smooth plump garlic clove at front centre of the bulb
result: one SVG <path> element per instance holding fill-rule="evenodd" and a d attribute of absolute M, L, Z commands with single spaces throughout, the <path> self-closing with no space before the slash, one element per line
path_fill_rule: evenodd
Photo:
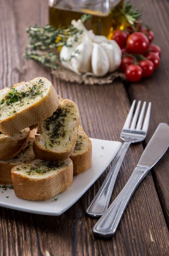
<path fill-rule="evenodd" d="M 92 71 L 95 76 L 104 76 L 109 71 L 109 58 L 105 50 L 96 43 L 93 43 Z"/>

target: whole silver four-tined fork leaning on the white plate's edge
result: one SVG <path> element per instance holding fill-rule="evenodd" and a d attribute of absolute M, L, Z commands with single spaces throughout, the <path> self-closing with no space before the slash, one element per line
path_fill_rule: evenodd
<path fill-rule="evenodd" d="M 90 216 L 99 217 L 103 215 L 104 212 L 106 212 L 109 206 L 112 192 L 113 192 L 115 180 L 118 175 L 121 164 L 124 160 L 124 156 L 127 152 L 127 149 L 129 148 L 131 143 L 141 142 L 146 137 L 148 127 L 149 127 L 151 102 L 149 102 L 142 129 L 141 127 L 143 123 L 146 102 L 143 103 L 143 107 L 141 109 L 141 113 L 138 119 L 140 106 L 141 106 L 141 101 L 138 102 L 134 117 L 132 119 L 132 115 L 135 107 L 135 100 L 132 102 L 130 111 L 128 113 L 127 119 L 124 123 L 123 129 L 121 131 L 121 136 L 120 136 L 121 139 L 124 140 L 124 143 L 122 144 L 120 150 L 118 151 L 118 154 L 115 157 L 113 166 L 111 167 L 101 188 L 99 189 L 97 195 L 95 196 L 95 198 L 93 199 L 93 201 L 90 203 L 89 207 L 86 210 L 87 214 Z M 137 123 L 137 119 L 138 119 L 138 123 Z M 132 120 L 132 124 L 130 126 L 131 120 Z M 137 126 L 136 126 L 136 123 L 137 123 Z"/>

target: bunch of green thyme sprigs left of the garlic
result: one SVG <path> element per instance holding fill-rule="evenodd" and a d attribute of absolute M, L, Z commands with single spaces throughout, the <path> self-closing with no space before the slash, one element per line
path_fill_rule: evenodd
<path fill-rule="evenodd" d="M 90 19 L 91 15 L 82 15 L 81 20 L 85 23 Z M 60 50 L 62 46 L 71 47 L 67 39 L 74 36 L 74 41 L 78 41 L 78 36 L 82 34 L 82 30 L 76 29 L 70 25 L 68 29 L 55 29 L 53 26 L 46 25 L 39 28 L 36 25 L 26 29 L 28 33 L 29 43 L 24 52 L 26 59 L 34 59 L 46 67 L 57 69 L 59 63 L 58 56 L 52 52 L 54 49 Z M 44 53 L 44 54 L 43 54 Z"/>

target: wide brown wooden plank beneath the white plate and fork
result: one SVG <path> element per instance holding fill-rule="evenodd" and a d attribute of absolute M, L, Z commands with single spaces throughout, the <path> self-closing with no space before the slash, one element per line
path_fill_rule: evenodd
<path fill-rule="evenodd" d="M 25 27 L 35 23 L 43 26 L 47 22 L 46 4 L 46 1 L 40 0 L 1 0 L 0 35 L 3 33 L 3 45 L 6 44 L 4 56 L 10 51 L 6 66 L 1 67 L 2 87 L 2 81 L 8 81 L 9 70 L 16 66 L 21 71 L 17 78 L 12 76 L 12 83 L 18 80 L 29 81 L 35 76 L 51 79 L 46 69 L 23 58 L 27 43 Z M 23 12 L 23 7 L 26 12 Z M 4 15 L 2 18 L 1 12 L 8 13 L 8 16 Z M 15 59 L 16 62 L 10 62 Z M 77 103 L 81 123 L 87 134 L 101 139 L 119 140 L 130 108 L 122 83 L 90 87 L 53 79 L 53 84 L 63 98 L 73 99 Z M 129 149 L 118 175 L 112 200 L 127 182 L 142 151 L 141 144 L 133 145 Z M 101 186 L 105 175 L 106 172 L 73 207 L 59 217 L 0 208 L 0 255 L 167 255 L 169 232 L 151 174 L 133 196 L 113 239 L 94 238 L 92 227 L 96 220 L 86 216 L 85 209 Z"/>

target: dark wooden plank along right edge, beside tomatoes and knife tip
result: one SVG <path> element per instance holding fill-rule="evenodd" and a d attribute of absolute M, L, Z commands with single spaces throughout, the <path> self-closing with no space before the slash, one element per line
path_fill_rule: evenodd
<path fill-rule="evenodd" d="M 169 5 L 165 0 L 146 1 L 141 3 L 133 0 L 138 9 L 144 4 L 143 21 L 147 23 L 155 34 L 153 43 L 161 47 L 161 64 L 149 79 L 144 79 L 138 84 L 130 84 L 127 91 L 130 100 L 133 99 L 152 102 L 151 121 L 145 145 L 149 142 L 152 133 L 160 122 L 169 124 L 169 72 L 168 56 L 166 49 L 169 49 L 168 14 Z M 169 151 L 163 159 L 153 168 L 152 176 L 157 188 L 158 196 L 163 208 L 165 219 L 169 227 Z"/>

